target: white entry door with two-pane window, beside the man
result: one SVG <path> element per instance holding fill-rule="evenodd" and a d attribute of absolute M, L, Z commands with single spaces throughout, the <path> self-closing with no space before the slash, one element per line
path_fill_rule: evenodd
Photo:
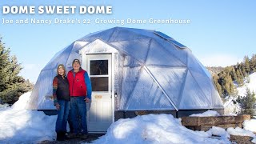
<path fill-rule="evenodd" d="M 87 105 L 88 131 L 106 132 L 113 121 L 111 54 L 86 55 L 86 70 L 93 91 Z"/>

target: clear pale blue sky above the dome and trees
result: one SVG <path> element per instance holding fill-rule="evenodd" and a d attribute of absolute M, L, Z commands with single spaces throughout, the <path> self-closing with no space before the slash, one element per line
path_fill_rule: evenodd
<path fill-rule="evenodd" d="M 2 14 L 2 6 L 112 6 L 113 14 Z M 0 34 L 36 82 L 40 70 L 59 50 L 78 38 L 119 24 L 2 24 L 5 19 L 189 19 L 190 24 L 125 24 L 158 30 L 181 42 L 205 66 L 229 66 L 256 54 L 256 1 L 1 1 Z"/>

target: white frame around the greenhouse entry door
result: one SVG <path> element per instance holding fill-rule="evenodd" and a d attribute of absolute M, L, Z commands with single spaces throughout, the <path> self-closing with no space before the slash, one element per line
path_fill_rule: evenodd
<path fill-rule="evenodd" d="M 81 67 L 83 69 L 86 68 L 87 56 L 90 56 L 90 55 L 103 55 L 103 54 L 110 54 L 111 61 L 112 61 L 111 62 L 111 91 L 110 91 L 110 94 L 111 94 L 111 110 L 112 110 L 112 123 L 113 123 L 114 122 L 114 83 L 115 83 L 115 81 L 114 81 L 114 53 L 84 53 L 84 54 L 80 54 L 81 61 L 82 61 Z M 92 94 L 95 94 L 95 93 L 92 92 Z M 96 92 L 96 94 L 97 94 L 97 92 Z M 97 134 L 97 133 L 102 133 L 102 132 L 95 132 L 95 131 L 93 131 L 92 133 Z"/>

